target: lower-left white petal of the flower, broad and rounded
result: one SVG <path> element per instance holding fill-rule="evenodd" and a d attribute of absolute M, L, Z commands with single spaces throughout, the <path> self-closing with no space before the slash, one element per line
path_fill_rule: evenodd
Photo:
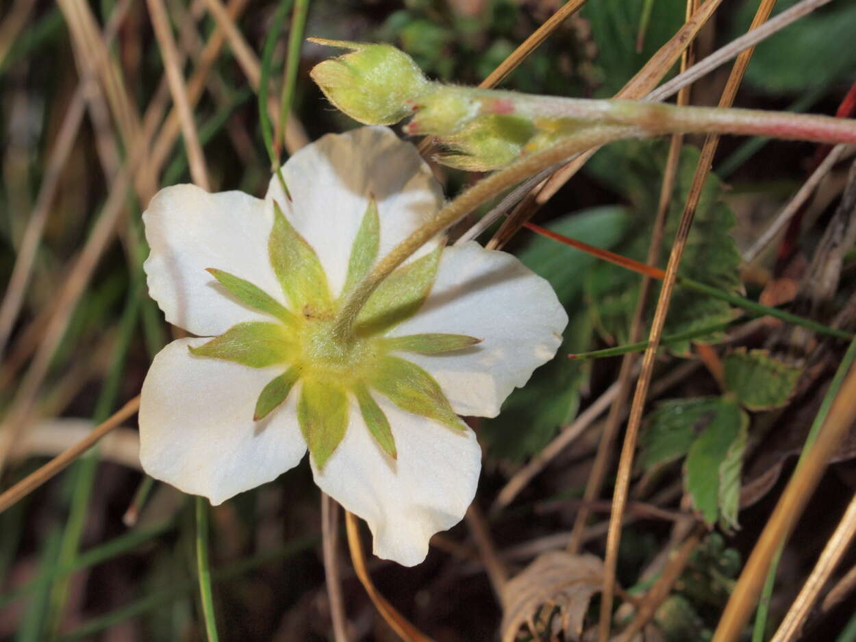
<path fill-rule="evenodd" d="M 174 341 L 152 361 L 140 400 L 140 461 L 155 479 L 218 504 L 296 466 L 306 442 L 296 387 L 253 421 L 259 393 L 282 367 L 257 370 L 187 349 L 205 341 Z"/>

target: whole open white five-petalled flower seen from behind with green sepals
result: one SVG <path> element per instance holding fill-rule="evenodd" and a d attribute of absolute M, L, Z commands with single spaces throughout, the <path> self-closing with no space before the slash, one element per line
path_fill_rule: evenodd
<path fill-rule="evenodd" d="M 276 177 L 264 200 L 178 185 L 143 215 L 149 292 L 200 338 L 152 363 L 140 459 L 218 504 L 296 466 L 308 442 L 318 486 L 366 520 L 375 554 L 412 566 L 478 484 L 479 444 L 457 414 L 496 416 L 568 318 L 514 257 L 436 239 L 336 340 L 343 294 L 443 194 L 387 128 L 324 136 L 282 175 L 290 199 Z"/>

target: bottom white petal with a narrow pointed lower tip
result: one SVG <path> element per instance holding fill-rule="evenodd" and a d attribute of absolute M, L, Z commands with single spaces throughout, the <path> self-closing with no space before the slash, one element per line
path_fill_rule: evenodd
<path fill-rule="evenodd" d="M 473 502 L 481 449 L 469 429 L 454 431 L 374 396 L 398 458 L 383 453 L 352 399 L 342 443 L 323 471 L 313 461 L 312 472 L 321 490 L 366 520 L 376 556 L 414 566 L 425 560 L 431 535 L 455 526 Z"/>

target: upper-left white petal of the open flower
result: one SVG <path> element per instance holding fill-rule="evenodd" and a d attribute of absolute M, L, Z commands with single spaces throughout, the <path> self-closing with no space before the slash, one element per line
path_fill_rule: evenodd
<path fill-rule="evenodd" d="M 175 185 L 155 195 L 143 221 L 152 247 L 143 266 L 149 294 L 169 323 L 214 336 L 244 321 L 270 321 L 235 300 L 207 268 L 240 276 L 285 303 L 268 259 L 273 218 L 265 201 Z"/>

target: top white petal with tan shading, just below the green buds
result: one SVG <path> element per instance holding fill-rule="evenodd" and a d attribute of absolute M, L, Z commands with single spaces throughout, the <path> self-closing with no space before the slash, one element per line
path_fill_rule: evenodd
<path fill-rule="evenodd" d="M 416 147 L 385 127 L 327 134 L 288 159 L 282 175 L 291 193 L 285 198 L 276 175 L 267 196 L 315 248 L 334 296 L 342 292 L 354 237 L 373 194 L 380 217 L 380 253 L 389 253 L 443 205 L 443 190 Z M 415 257 L 431 252 L 426 243 Z"/>

